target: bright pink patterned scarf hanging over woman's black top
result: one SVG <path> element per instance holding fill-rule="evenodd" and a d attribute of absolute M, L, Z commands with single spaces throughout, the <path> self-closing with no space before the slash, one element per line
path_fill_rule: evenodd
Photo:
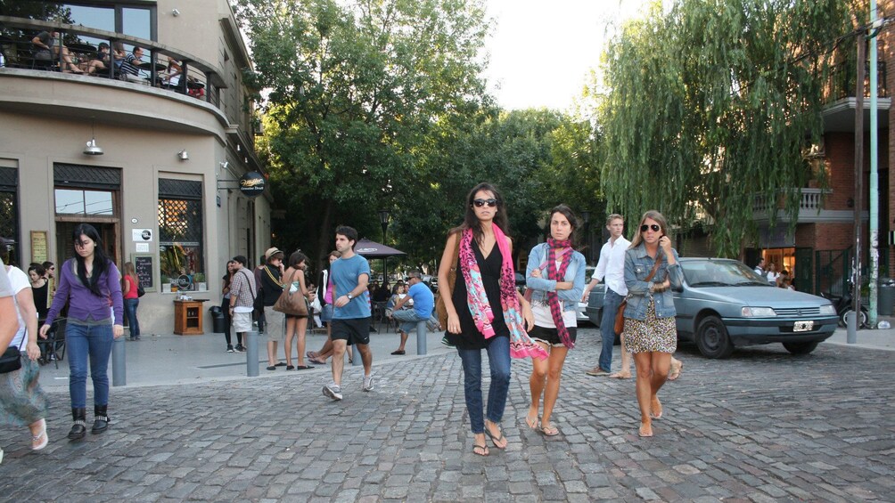
<path fill-rule="evenodd" d="M 503 262 L 500 264 L 500 307 L 503 310 L 504 322 L 509 329 L 509 355 L 514 358 L 541 358 L 550 356 L 541 346 L 535 344 L 525 332 L 522 308 L 516 297 L 516 271 L 507 245 L 507 238 L 497 225 L 493 226 L 494 239 L 500 250 Z M 494 312 L 491 310 L 488 296 L 482 284 L 482 271 L 475 260 L 473 252 L 473 230 L 466 229 L 460 237 L 459 251 L 460 270 L 466 283 L 466 299 L 469 312 L 473 315 L 475 328 L 482 332 L 485 339 L 494 337 Z"/>

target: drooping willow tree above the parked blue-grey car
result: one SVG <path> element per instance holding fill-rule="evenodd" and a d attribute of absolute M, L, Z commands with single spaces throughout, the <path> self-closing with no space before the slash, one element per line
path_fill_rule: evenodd
<path fill-rule="evenodd" d="M 844 0 L 678 0 L 626 24 L 604 54 L 609 209 L 713 222 L 721 256 L 754 235 L 758 197 L 782 198 L 795 222 L 790 189 L 812 176 L 804 151 L 822 134 L 832 51 L 853 54 L 854 38 L 840 37 L 854 29 L 849 9 Z"/>

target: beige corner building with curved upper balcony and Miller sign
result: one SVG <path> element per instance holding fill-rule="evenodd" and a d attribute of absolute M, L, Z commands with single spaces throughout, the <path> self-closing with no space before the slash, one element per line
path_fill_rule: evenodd
<path fill-rule="evenodd" d="M 49 61 L 32 42 L 43 31 Z M 102 45 L 140 46 L 138 75 Z M 141 331 L 174 330 L 178 287 L 208 298 L 207 316 L 226 261 L 253 263 L 270 240 L 269 192 L 239 187 L 264 170 L 227 1 L 0 4 L 0 49 L 0 233 L 14 262 L 62 263 L 74 225 L 90 222 L 119 266 L 138 264 Z"/>

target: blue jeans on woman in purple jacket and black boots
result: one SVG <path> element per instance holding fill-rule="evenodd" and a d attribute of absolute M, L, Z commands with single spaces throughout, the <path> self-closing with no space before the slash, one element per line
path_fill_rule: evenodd
<path fill-rule="evenodd" d="M 90 378 L 93 380 L 93 404 L 105 406 L 109 401 L 107 368 L 112 354 L 112 325 L 65 325 L 65 346 L 68 348 L 68 393 L 72 408 L 87 407 L 87 357 L 90 356 Z"/>

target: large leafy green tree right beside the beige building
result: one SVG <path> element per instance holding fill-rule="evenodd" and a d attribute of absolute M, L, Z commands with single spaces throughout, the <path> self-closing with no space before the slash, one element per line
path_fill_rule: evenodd
<path fill-rule="evenodd" d="M 237 14 L 269 93 L 277 238 L 320 258 L 337 224 L 378 237 L 380 208 L 428 196 L 433 142 L 487 101 L 477 0 L 240 0 Z"/>

